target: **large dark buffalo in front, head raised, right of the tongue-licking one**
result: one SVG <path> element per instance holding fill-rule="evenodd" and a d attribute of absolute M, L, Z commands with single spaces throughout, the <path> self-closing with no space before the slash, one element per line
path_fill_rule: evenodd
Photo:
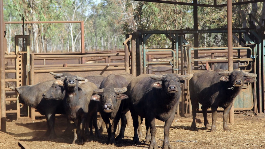
<path fill-rule="evenodd" d="M 130 100 L 128 105 L 133 117 L 133 143 L 139 142 L 137 135 L 139 115 L 145 118 L 146 142 L 151 139 L 149 149 L 158 148 L 155 140 L 155 119 L 165 122 L 163 148 L 172 148 L 168 142 L 169 127 L 173 122 L 181 95 L 180 85 L 191 77 L 192 74 L 140 75 L 131 80 L 127 92 Z"/>

